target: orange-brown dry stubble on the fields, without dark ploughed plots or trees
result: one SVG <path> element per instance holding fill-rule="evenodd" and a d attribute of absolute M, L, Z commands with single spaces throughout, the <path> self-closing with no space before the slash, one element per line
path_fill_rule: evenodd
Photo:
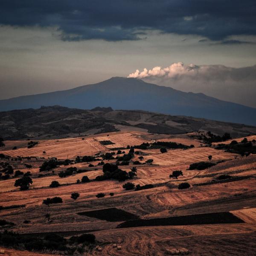
<path fill-rule="evenodd" d="M 12 148 L 15 144 L 20 145 L 20 147 L 16 151 L 7 150 L 3 151 L 3 153 L 12 156 L 20 154 L 23 156 L 52 156 L 65 159 L 67 154 L 69 158 L 74 158 L 80 154 L 80 151 L 81 155 L 90 155 L 99 151 L 106 152 L 111 148 L 138 145 L 143 142 L 157 140 L 157 138 L 160 141 L 174 141 L 186 145 L 194 144 L 196 147 L 188 150 L 168 150 L 164 154 L 161 154 L 159 149 L 143 150 L 147 155 L 144 156 L 142 162 L 147 159 L 153 159 L 153 165 L 137 166 L 138 177 L 131 180 L 131 182 L 136 185 L 154 184 L 155 187 L 141 191 L 125 191 L 122 188 L 125 182 L 116 180 L 76 184 L 76 180 L 81 180 L 84 175 L 93 179 L 102 174 L 101 166 L 88 168 L 88 163 L 71 165 L 76 166 L 78 169 L 87 170 L 87 172 L 60 178 L 58 177 L 58 172 L 70 166 L 61 166 L 55 169 L 54 174 L 49 172 L 49 176 L 38 177 L 42 173 L 39 172 L 39 166 L 44 160 L 32 159 L 24 162 L 12 162 L 11 164 L 15 167 L 15 170 L 32 172 L 33 184 L 28 191 L 19 191 L 14 187 L 15 178 L 0 180 L 0 205 L 26 205 L 24 208 L 1 210 L 0 219 L 14 222 L 16 226 L 12 230 L 19 233 L 73 232 L 75 234 L 76 232 L 83 233 L 88 230 L 99 230 L 94 232 L 96 239 L 111 244 L 103 246 L 100 254 L 93 251 L 92 255 L 164 256 L 165 250 L 173 247 L 187 247 L 191 255 L 213 255 L 212 252 L 218 252 L 215 254 L 222 256 L 228 255 L 230 250 L 232 250 L 233 255 L 241 255 L 241 251 L 248 252 L 248 254 L 244 255 L 253 255 L 256 208 L 243 209 L 246 203 L 244 202 L 243 204 L 242 201 L 239 201 L 243 199 L 241 197 L 239 199 L 237 195 L 243 195 L 245 198 L 251 196 L 251 201 L 248 201 L 248 206 L 250 206 L 253 195 L 256 195 L 254 178 L 207 186 L 192 186 L 191 189 L 184 190 L 178 190 L 177 185 L 184 181 L 189 182 L 191 185 L 207 182 L 222 173 L 228 173 L 233 176 L 256 176 L 255 155 L 237 157 L 236 154 L 226 153 L 222 150 L 198 147 L 199 142 L 187 138 L 187 135 L 177 135 L 177 137 L 172 136 L 170 138 L 169 135 L 145 134 L 134 131 L 110 133 L 109 136 L 100 134 L 93 137 L 85 137 L 84 140 L 70 138 L 39 141 L 39 144 L 31 149 L 20 148 L 22 145 L 26 145 L 24 141 L 15 141 L 12 142 L 13 144 L 7 142 L 6 149 Z M 102 140 L 111 140 L 115 144 L 101 145 L 99 141 Z M 46 151 L 47 154 L 43 155 L 42 151 Z M 125 151 L 127 152 L 128 150 Z M 213 162 L 219 160 L 225 160 L 225 162 L 218 163 L 218 165 L 203 171 L 188 170 L 191 163 L 208 161 L 208 155 L 212 155 Z M 237 158 L 235 159 L 235 157 Z M 138 155 L 135 155 L 133 160 L 138 160 Z M 113 162 L 114 160 L 110 161 L 110 163 Z M 24 163 L 32 164 L 32 169 L 24 168 Z M 93 164 L 96 165 L 97 162 Z M 130 171 L 131 167 L 132 165 L 120 166 L 125 171 Z M 94 170 L 95 168 L 98 170 Z M 182 170 L 183 172 L 183 176 L 178 177 L 177 180 L 169 178 L 169 175 L 175 170 Z M 43 173 L 46 174 L 47 172 Z M 49 188 L 52 180 L 58 180 L 63 186 Z M 80 197 L 76 201 L 70 198 L 72 192 L 80 193 Z M 95 195 L 99 192 L 104 192 L 106 194 L 105 198 L 96 198 Z M 110 192 L 114 193 L 113 197 L 109 195 Z M 51 205 L 50 207 L 42 205 L 43 199 L 54 196 L 61 197 L 63 203 Z M 230 203 L 230 200 L 236 203 Z M 182 214 L 191 214 L 191 212 L 197 211 L 207 212 L 209 211 L 207 207 L 209 204 L 212 204 L 216 211 L 220 211 L 222 208 L 216 203 L 218 201 L 222 202 L 221 207 L 225 205 L 225 211 L 232 211 L 233 214 L 243 219 L 246 223 L 114 229 L 119 222 L 108 222 L 77 215 L 78 212 L 87 210 L 117 207 L 138 215 L 140 218 L 161 218 L 180 212 Z M 229 203 L 225 204 L 225 202 Z M 186 208 L 189 206 L 194 207 L 192 211 Z M 252 207 L 255 207 L 254 204 Z M 46 213 L 51 215 L 49 223 L 44 217 Z M 23 224 L 24 220 L 29 220 L 31 223 Z M 113 248 L 113 243 L 122 245 L 122 250 L 119 251 Z M 195 244 L 204 244 L 204 246 L 195 247 Z M 219 244 L 222 244 L 221 249 L 218 249 Z M 7 255 L 11 256 L 39 255 L 9 249 L 7 253 Z"/>

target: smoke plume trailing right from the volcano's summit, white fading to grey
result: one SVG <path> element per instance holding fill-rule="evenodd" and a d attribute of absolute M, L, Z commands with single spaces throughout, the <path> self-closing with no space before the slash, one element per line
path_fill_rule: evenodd
<path fill-rule="evenodd" d="M 177 62 L 164 68 L 136 70 L 128 77 L 256 108 L 256 65 L 233 68 Z"/>

